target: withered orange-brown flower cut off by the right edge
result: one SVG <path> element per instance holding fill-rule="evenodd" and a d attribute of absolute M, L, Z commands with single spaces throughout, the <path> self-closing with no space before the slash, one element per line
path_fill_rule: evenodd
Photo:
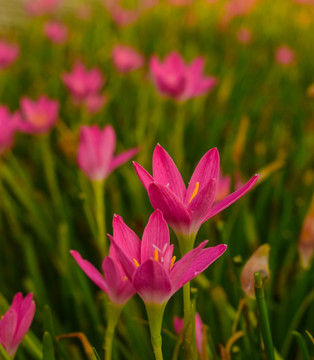
<path fill-rule="evenodd" d="M 298 250 L 301 266 L 309 269 L 314 254 L 314 196 L 303 222 Z"/>

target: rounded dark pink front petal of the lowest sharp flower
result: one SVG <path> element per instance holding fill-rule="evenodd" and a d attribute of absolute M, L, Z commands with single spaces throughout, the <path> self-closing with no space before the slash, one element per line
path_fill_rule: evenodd
<path fill-rule="evenodd" d="M 135 271 L 133 285 L 147 304 L 163 304 L 169 299 L 171 284 L 163 266 L 155 260 L 147 260 Z"/>

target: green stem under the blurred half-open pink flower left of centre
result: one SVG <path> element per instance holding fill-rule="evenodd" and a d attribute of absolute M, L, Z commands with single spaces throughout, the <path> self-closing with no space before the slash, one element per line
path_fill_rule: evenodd
<path fill-rule="evenodd" d="M 108 246 L 106 241 L 106 215 L 104 203 L 105 182 L 93 181 L 93 187 L 96 206 L 96 221 L 98 226 L 98 246 L 101 251 L 102 257 L 105 257 L 108 255 Z"/>

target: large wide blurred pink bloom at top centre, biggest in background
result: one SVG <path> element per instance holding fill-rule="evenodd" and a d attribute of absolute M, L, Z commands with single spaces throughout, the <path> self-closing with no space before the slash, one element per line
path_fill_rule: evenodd
<path fill-rule="evenodd" d="M 204 65 L 202 57 L 186 65 L 177 52 L 172 52 L 163 63 L 157 56 L 152 56 L 150 72 L 161 95 L 185 101 L 207 93 L 216 85 L 216 78 L 203 75 Z"/>

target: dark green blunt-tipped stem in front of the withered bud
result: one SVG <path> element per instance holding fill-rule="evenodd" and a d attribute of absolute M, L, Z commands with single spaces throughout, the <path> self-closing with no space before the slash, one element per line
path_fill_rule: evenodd
<path fill-rule="evenodd" d="M 255 297 L 257 302 L 257 309 L 260 316 L 261 331 L 265 346 L 265 352 L 268 360 L 275 360 L 273 340 L 271 336 L 267 306 L 264 297 L 263 280 L 259 272 L 254 273 L 254 280 L 255 280 L 255 285 L 254 285 Z"/>

